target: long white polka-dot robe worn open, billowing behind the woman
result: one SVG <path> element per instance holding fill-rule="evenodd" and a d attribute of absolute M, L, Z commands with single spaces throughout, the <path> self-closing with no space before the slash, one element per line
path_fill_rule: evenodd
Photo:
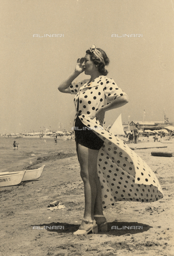
<path fill-rule="evenodd" d="M 117 201 L 154 202 L 161 199 L 162 189 L 150 167 L 94 117 L 95 111 L 126 93 L 113 79 L 105 76 L 96 78 L 89 85 L 88 81 L 74 83 L 70 89 L 76 94 L 74 102 L 81 121 L 104 141 L 98 155 L 103 209 L 113 207 Z"/>

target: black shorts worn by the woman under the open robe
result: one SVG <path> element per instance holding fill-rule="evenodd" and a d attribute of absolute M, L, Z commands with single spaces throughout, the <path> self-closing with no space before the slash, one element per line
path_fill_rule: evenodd
<path fill-rule="evenodd" d="M 79 116 L 77 116 L 75 120 L 75 127 L 77 145 L 79 143 L 86 148 L 95 150 L 99 150 L 102 147 L 104 141 L 100 139 L 88 126 L 84 125 Z"/>

